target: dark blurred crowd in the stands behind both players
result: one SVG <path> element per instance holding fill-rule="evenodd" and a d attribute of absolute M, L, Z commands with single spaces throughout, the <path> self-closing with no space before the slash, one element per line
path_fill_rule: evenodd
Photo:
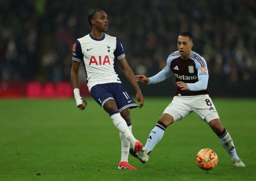
<path fill-rule="evenodd" d="M 70 81 L 72 46 L 91 32 L 88 14 L 96 8 L 108 15 L 106 34 L 120 40 L 135 74 L 161 71 L 188 31 L 209 82 L 239 87 L 256 79 L 255 0 L 3 0 L 0 80 Z"/>

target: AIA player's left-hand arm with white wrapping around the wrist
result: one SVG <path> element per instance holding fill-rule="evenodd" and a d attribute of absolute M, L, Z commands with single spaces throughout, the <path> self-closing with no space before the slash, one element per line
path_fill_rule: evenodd
<path fill-rule="evenodd" d="M 87 106 L 87 102 L 80 96 L 79 92 L 79 61 L 74 61 L 72 62 L 72 68 L 71 68 L 71 83 L 74 89 L 74 95 L 76 99 L 76 106 L 80 108 L 81 110 L 85 109 L 85 106 Z M 83 102 L 85 105 L 83 105 Z"/>

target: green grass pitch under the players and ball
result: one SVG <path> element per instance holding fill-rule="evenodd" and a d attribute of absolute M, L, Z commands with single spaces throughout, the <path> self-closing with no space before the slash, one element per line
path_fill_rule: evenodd
<path fill-rule="evenodd" d="M 119 132 L 92 99 L 81 111 L 71 100 L 0 100 L 0 180 L 256 180 L 256 99 L 212 98 L 238 157 L 246 167 L 234 167 L 211 128 L 194 113 L 170 125 L 138 170 L 118 170 Z M 143 145 L 163 110 L 172 101 L 145 98 L 142 109 L 131 110 L 132 132 Z M 201 170 L 196 154 L 211 148 L 218 165 Z"/>

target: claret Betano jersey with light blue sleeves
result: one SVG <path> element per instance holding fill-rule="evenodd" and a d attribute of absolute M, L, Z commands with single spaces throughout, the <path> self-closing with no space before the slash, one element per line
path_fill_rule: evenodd
<path fill-rule="evenodd" d="M 165 68 L 157 75 L 149 78 L 150 83 L 161 82 L 171 74 L 174 74 L 176 82 L 184 82 L 188 84 L 188 90 L 181 90 L 176 86 L 176 96 L 191 96 L 209 94 L 207 88 L 208 69 L 206 61 L 199 54 L 191 51 L 188 60 L 182 60 L 179 51 L 173 52 L 167 58 Z"/>

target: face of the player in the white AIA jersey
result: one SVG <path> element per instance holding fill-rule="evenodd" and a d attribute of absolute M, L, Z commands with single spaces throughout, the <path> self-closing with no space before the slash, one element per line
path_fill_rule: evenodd
<path fill-rule="evenodd" d="M 105 32 L 108 29 L 108 15 L 104 11 L 98 11 L 94 16 L 93 22 L 95 28 L 100 32 Z"/>

